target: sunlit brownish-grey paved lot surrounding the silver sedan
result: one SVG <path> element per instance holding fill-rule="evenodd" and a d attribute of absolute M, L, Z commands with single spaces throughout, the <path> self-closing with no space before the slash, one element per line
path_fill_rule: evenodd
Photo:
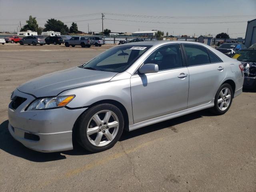
<path fill-rule="evenodd" d="M 230 110 L 203 110 L 132 132 L 110 150 L 79 146 L 44 154 L 9 134 L 11 92 L 32 78 L 78 66 L 110 45 L 0 45 L 0 191 L 256 192 L 256 93 L 246 91 Z"/>

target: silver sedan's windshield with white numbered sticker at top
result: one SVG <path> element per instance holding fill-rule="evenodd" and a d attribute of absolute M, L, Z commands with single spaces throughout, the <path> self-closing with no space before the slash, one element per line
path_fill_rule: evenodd
<path fill-rule="evenodd" d="M 81 67 L 90 70 L 124 72 L 150 47 L 152 46 L 116 46 L 96 56 Z"/>

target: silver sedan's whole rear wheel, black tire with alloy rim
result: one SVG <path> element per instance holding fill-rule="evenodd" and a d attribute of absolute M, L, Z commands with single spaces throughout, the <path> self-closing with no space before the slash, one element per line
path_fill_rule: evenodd
<path fill-rule="evenodd" d="M 228 111 L 233 100 L 233 90 L 230 84 L 222 84 L 214 98 L 214 107 L 211 111 L 216 115 L 222 115 Z"/>

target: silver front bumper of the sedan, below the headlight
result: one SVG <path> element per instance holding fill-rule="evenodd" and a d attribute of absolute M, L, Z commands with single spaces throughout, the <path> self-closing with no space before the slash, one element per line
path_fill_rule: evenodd
<path fill-rule="evenodd" d="M 14 96 L 27 99 L 16 110 L 12 109 L 11 103 L 9 105 L 8 129 L 14 139 L 24 146 L 40 152 L 73 149 L 72 129 L 77 118 L 86 110 L 85 108 L 25 111 L 35 98 L 18 90 L 14 91 Z M 32 137 L 28 137 L 28 135 Z"/>

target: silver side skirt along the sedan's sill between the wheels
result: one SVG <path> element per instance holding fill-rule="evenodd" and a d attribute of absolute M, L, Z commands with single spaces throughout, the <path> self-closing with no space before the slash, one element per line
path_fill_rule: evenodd
<path fill-rule="evenodd" d="M 175 112 L 175 113 L 172 113 L 172 114 L 156 117 L 156 118 L 153 118 L 153 119 L 150 119 L 150 120 L 146 120 L 146 121 L 142 121 L 142 122 L 139 122 L 139 123 L 136 123 L 136 124 L 133 124 L 133 125 L 129 125 L 129 131 L 136 130 L 136 129 L 142 128 L 144 126 L 152 125 L 152 124 L 159 123 L 159 122 L 162 122 L 162 121 L 166 121 L 166 120 L 169 120 L 169 119 L 173 119 L 173 118 L 176 118 L 176 117 L 180 117 L 180 116 L 190 114 L 190 113 L 193 113 L 193 112 L 196 112 L 196 111 L 200 111 L 200 110 L 203 110 L 203 109 L 206 109 L 206 108 L 211 108 L 213 106 L 214 106 L 214 98 L 212 98 L 212 100 L 210 102 L 208 102 L 206 104 L 202 104 L 200 106 L 196 106 L 196 107 L 185 109 L 185 110 Z"/>

